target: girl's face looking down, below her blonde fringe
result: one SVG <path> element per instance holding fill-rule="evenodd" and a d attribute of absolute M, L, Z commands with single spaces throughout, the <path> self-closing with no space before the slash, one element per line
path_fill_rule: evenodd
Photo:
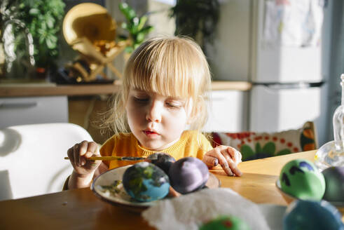
<path fill-rule="evenodd" d="M 186 128 L 192 101 L 186 102 L 130 88 L 125 104 L 130 130 L 143 147 L 166 149 L 179 140 Z"/>

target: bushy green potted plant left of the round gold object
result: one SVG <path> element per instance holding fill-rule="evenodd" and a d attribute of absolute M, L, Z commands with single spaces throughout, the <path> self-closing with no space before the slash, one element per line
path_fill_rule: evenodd
<path fill-rule="evenodd" d="M 37 74 L 45 75 L 56 68 L 59 55 L 59 34 L 64 17 L 62 0 L 22 0 L 18 18 L 32 34 Z"/>

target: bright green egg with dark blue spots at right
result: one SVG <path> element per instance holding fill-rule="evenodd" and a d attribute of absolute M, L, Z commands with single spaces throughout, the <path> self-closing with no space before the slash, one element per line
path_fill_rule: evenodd
<path fill-rule="evenodd" d="M 324 196 L 324 175 L 306 159 L 285 164 L 280 173 L 282 191 L 300 199 L 319 201 Z"/>

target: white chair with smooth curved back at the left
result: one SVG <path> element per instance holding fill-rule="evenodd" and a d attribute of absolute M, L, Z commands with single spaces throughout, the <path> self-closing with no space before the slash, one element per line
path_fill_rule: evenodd
<path fill-rule="evenodd" d="M 67 149 L 90 134 L 72 123 L 11 126 L 0 130 L 0 201 L 62 191 L 73 168 Z"/>

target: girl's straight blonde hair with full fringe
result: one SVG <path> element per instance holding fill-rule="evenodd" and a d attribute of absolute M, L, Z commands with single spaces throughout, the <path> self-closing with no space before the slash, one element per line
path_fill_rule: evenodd
<path fill-rule="evenodd" d="M 130 56 L 123 87 L 115 95 L 108 123 L 115 133 L 128 133 L 125 103 L 130 88 L 169 97 L 192 98 L 192 130 L 207 121 L 207 98 L 211 87 L 209 65 L 200 46 L 187 37 L 157 37 L 142 43 Z"/>

